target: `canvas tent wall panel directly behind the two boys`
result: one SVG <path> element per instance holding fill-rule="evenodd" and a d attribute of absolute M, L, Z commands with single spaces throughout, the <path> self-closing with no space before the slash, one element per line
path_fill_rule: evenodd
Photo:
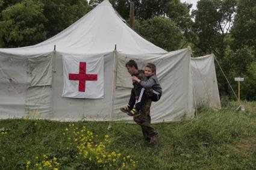
<path fill-rule="evenodd" d="M 189 49 L 182 49 L 165 55 L 117 53 L 117 88 L 114 99 L 114 119 L 120 118 L 120 115 L 118 115 L 120 113 L 119 108 L 127 105 L 130 97 L 131 76 L 125 68 L 125 63 L 130 59 L 136 60 L 139 68 L 143 68 L 148 62 L 152 62 L 157 66 L 157 77 L 163 88 L 163 95 L 158 102 L 152 102 L 152 123 L 180 120 L 184 115 L 189 118 L 193 117 L 190 53 Z M 123 120 L 127 119 L 123 118 Z"/>

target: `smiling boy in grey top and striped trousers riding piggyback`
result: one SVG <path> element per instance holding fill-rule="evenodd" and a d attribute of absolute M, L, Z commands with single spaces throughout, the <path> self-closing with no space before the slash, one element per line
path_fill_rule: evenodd
<path fill-rule="evenodd" d="M 157 76 L 155 76 L 156 70 L 157 68 L 155 67 L 155 64 L 148 63 L 145 66 L 145 76 L 148 78 L 147 80 L 141 80 L 136 76 L 132 77 L 133 81 L 138 82 L 142 86 L 142 90 L 140 91 L 139 99 L 137 100 L 135 107 L 130 112 L 128 112 L 129 115 L 137 115 L 139 113 L 140 109 L 145 103 L 146 89 L 152 88 L 152 102 L 157 102 L 160 100 L 162 88 L 157 79 Z"/>

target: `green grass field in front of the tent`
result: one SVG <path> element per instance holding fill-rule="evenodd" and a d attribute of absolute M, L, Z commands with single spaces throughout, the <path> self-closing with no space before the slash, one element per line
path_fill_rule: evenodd
<path fill-rule="evenodd" d="M 154 124 L 160 133 L 155 144 L 143 140 L 136 124 L 111 123 L 113 130 L 108 132 L 108 123 L 104 122 L 72 125 L 47 120 L 0 120 L 0 169 L 32 167 L 35 157 L 41 163 L 57 159 L 58 169 L 256 169 L 256 102 L 243 105 L 246 111 L 239 112 L 235 111 L 237 102 L 222 102 L 220 111 L 199 108 L 193 120 Z M 96 157 L 90 161 L 80 157 L 76 137 L 71 136 L 71 144 L 66 129 L 84 126 L 98 135 L 93 138 L 94 144 L 108 135 L 111 143 L 105 145 L 105 153 L 115 151 L 122 159 L 129 156 L 137 161 L 135 168 L 122 166 L 118 158 L 115 166 L 105 166 L 97 163 Z M 40 158 L 43 154 L 48 158 Z"/>

